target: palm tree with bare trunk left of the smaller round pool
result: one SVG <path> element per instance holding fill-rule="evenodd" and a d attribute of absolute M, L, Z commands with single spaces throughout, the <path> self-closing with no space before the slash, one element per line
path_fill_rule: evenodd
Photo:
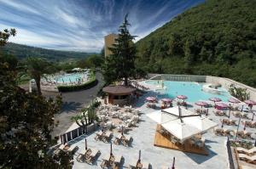
<path fill-rule="evenodd" d="M 41 76 L 44 76 L 44 74 L 52 73 L 54 70 L 53 68 L 53 65 L 51 65 L 46 59 L 36 57 L 26 58 L 24 69 L 26 74 L 35 80 L 38 89 L 38 95 L 42 94 L 40 85 Z"/>

